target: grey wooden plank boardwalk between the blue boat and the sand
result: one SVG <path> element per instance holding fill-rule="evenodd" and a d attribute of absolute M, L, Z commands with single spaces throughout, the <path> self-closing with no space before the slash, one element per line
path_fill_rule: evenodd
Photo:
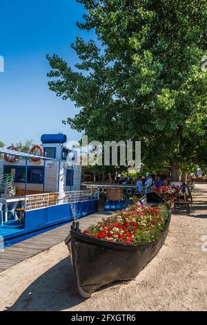
<path fill-rule="evenodd" d="M 102 211 L 79 219 L 81 230 L 88 228 L 89 225 L 100 221 L 107 215 L 110 215 L 110 212 Z M 66 236 L 68 236 L 71 224 L 72 222 L 61 225 L 58 228 L 43 232 L 42 234 L 21 241 L 21 243 L 16 243 L 0 251 L 0 272 L 64 241 Z"/>

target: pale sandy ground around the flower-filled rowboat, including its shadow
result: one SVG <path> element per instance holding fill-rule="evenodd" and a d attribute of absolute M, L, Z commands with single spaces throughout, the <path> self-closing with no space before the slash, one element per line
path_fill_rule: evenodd
<path fill-rule="evenodd" d="M 81 299 L 60 243 L 0 273 L 0 310 L 207 310 L 207 185 L 194 201 L 190 216 L 172 215 L 166 243 L 134 281 Z"/>

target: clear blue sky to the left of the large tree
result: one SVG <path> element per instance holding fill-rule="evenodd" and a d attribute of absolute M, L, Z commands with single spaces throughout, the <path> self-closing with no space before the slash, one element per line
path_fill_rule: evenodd
<path fill-rule="evenodd" d="M 42 133 L 63 132 L 68 140 L 80 138 L 61 121 L 77 113 L 74 104 L 56 97 L 48 89 L 50 66 L 46 54 L 53 53 L 73 66 L 77 55 L 70 44 L 80 31 L 83 6 L 75 0 L 1 0 L 0 55 L 5 71 L 0 73 L 0 140 L 6 145 L 27 139 L 40 143 Z"/>

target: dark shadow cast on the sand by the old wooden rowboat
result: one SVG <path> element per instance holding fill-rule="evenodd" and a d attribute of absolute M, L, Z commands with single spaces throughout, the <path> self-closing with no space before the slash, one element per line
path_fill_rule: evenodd
<path fill-rule="evenodd" d="M 6 310 L 64 310 L 82 301 L 75 291 L 72 265 L 67 257 L 30 284 Z"/>

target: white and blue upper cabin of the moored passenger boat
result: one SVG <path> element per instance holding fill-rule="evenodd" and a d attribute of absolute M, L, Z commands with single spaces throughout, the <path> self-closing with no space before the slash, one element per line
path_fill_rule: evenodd
<path fill-rule="evenodd" d="M 66 136 L 61 133 L 41 136 L 43 156 L 51 160 L 37 158 L 37 161 L 34 161 L 35 158 L 32 160 L 32 157 L 28 156 L 27 185 L 25 185 L 26 158 L 24 157 L 12 163 L 6 159 L 0 160 L 0 179 L 3 175 L 11 174 L 17 196 L 25 194 L 25 187 L 27 187 L 26 194 L 80 190 L 81 166 L 77 165 L 77 151 L 69 150 L 64 146 L 63 143 L 66 141 Z M 70 159 L 67 160 L 68 155 Z M 1 192 L 0 194 L 3 194 Z"/>

